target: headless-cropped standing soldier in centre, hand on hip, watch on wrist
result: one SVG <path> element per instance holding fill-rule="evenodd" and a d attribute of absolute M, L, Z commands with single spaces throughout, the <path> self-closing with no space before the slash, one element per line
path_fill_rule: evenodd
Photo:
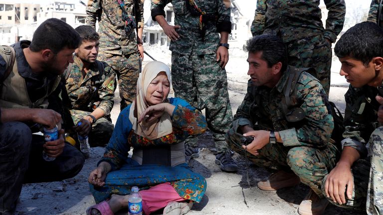
<path fill-rule="evenodd" d="M 175 13 L 174 26 L 165 19 L 164 7 L 170 2 Z M 229 59 L 230 0 L 152 0 L 151 10 L 153 20 L 172 40 L 175 96 L 196 109 L 205 109 L 207 126 L 218 151 L 215 163 L 223 171 L 237 171 L 224 139 L 232 121 L 224 69 Z M 196 139 L 186 142 L 186 156 L 198 157 Z"/>

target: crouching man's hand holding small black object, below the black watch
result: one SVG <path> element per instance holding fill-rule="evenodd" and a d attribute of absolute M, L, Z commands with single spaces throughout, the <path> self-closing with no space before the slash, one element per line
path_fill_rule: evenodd
<path fill-rule="evenodd" d="M 247 146 L 242 145 L 242 148 L 253 155 L 258 155 L 258 150 L 269 143 L 270 131 L 254 130 L 244 133 L 243 136 L 253 136 L 254 140 Z"/>

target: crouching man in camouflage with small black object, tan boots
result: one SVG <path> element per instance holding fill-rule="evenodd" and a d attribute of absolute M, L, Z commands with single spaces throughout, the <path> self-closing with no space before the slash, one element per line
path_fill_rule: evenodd
<path fill-rule="evenodd" d="M 302 182 L 310 193 L 298 213 L 322 214 L 328 205 L 322 180 L 335 165 L 337 153 L 330 142 L 334 122 L 325 91 L 306 69 L 287 65 L 279 37 L 254 36 L 245 50 L 251 80 L 226 141 L 255 165 L 277 171 L 258 182 L 258 188 L 275 191 Z M 249 144 L 239 141 L 242 134 L 252 136 Z"/>

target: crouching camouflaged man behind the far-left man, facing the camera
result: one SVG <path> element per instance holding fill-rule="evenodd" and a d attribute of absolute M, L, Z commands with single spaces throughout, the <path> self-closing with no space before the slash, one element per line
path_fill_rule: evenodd
<path fill-rule="evenodd" d="M 108 64 L 97 60 L 100 37 L 96 30 L 89 25 L 75 30 L 80 34 L 81 44 L 75 50 L 74 63 L 64 73 L 66 95 L 62 98 L 68 99 L 65 105 L 74 125 L 82 122 L 76 126 L 76 132 L 88 135 L 92 147 L 105 146 L 113 132 L 110 111 L 116 73 Z"/>

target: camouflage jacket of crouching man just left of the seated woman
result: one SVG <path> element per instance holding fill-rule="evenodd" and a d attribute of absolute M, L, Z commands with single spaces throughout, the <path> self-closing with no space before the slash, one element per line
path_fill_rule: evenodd
<path fill-rule="evenodd" d="M 115 72 L 105 62 L 101 62 L 105 69 L 100 72 L 94 63 L 83 78 L 81 59 L 76 55 L 73 59 L 74 63 L 69 65 L 72 68 L 65 82 L 70 108 L 92 112 L 93 103 L 100 102 L 98 108 L 104 111 L 105 116 L 109 115 L 114 105 Z"/>

